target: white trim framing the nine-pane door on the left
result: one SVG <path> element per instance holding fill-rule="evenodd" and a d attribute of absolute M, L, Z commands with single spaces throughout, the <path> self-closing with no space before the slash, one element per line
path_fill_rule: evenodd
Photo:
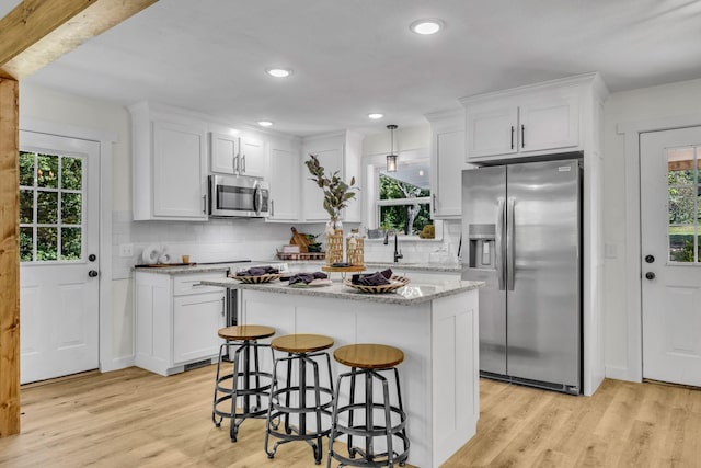
<path fill-rule="evenodd" d="M 113 355 L 112 305 L 112 159 L 116 133 L 85 128 L 20 116 L 20 130 L 84 139 L 100 144 L 100 372 L 134 364 L 134 354 L 124 358 Z"/>

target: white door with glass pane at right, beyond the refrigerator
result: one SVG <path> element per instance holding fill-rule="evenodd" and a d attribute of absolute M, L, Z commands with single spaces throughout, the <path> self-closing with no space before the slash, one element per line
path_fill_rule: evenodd
<path fill-rule="evenodd" d="M 643 377 L 701 387 L 701 127 L 640 148 Z"/>

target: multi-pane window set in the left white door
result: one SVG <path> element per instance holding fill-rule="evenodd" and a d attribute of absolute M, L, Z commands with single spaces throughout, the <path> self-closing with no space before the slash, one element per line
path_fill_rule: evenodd
<path fill-rule="evenodd" d="M 20 152 L 20 261 L 82 259 L 83 160 Z"/>

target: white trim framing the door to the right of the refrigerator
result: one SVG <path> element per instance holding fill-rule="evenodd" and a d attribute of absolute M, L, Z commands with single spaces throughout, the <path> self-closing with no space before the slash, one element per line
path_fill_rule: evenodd
<path fill-rule="evenodd" d="M 606 376 L 643 381 L 643 305 L 640 216 L 640 134 L 701 126 L 701 114 L 620 123 L 616 127 L 625 138 L 625 282 L 628 353 L 625 367 L 606 366 Z"/>

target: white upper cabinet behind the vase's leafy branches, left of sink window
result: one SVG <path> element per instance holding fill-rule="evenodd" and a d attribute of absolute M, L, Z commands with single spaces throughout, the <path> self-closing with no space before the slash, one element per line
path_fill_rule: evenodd
<path fill-rule="evenodd" d="M 302 164 L 309 159 L 309 155 L 319 158 L 326 176 L 338 171 L 338 175 L 347 184 L 355 178 L 355 185 L 360 181 L 360 158 L 363 138 L 353 132 L 340 132 L 313 137 L 306 137 L 302 141 Z M 309 180 L 311 174 L 306 165 L 302 165 L 302 217 L 303 221 L 325 222 L 329 213 L 323 207 L 323 192 L 315 182 Z M 348 207 L 342 213 L 342 220 L 360 222 L 361 204 L 360 191 L 350 199 Z"/>

